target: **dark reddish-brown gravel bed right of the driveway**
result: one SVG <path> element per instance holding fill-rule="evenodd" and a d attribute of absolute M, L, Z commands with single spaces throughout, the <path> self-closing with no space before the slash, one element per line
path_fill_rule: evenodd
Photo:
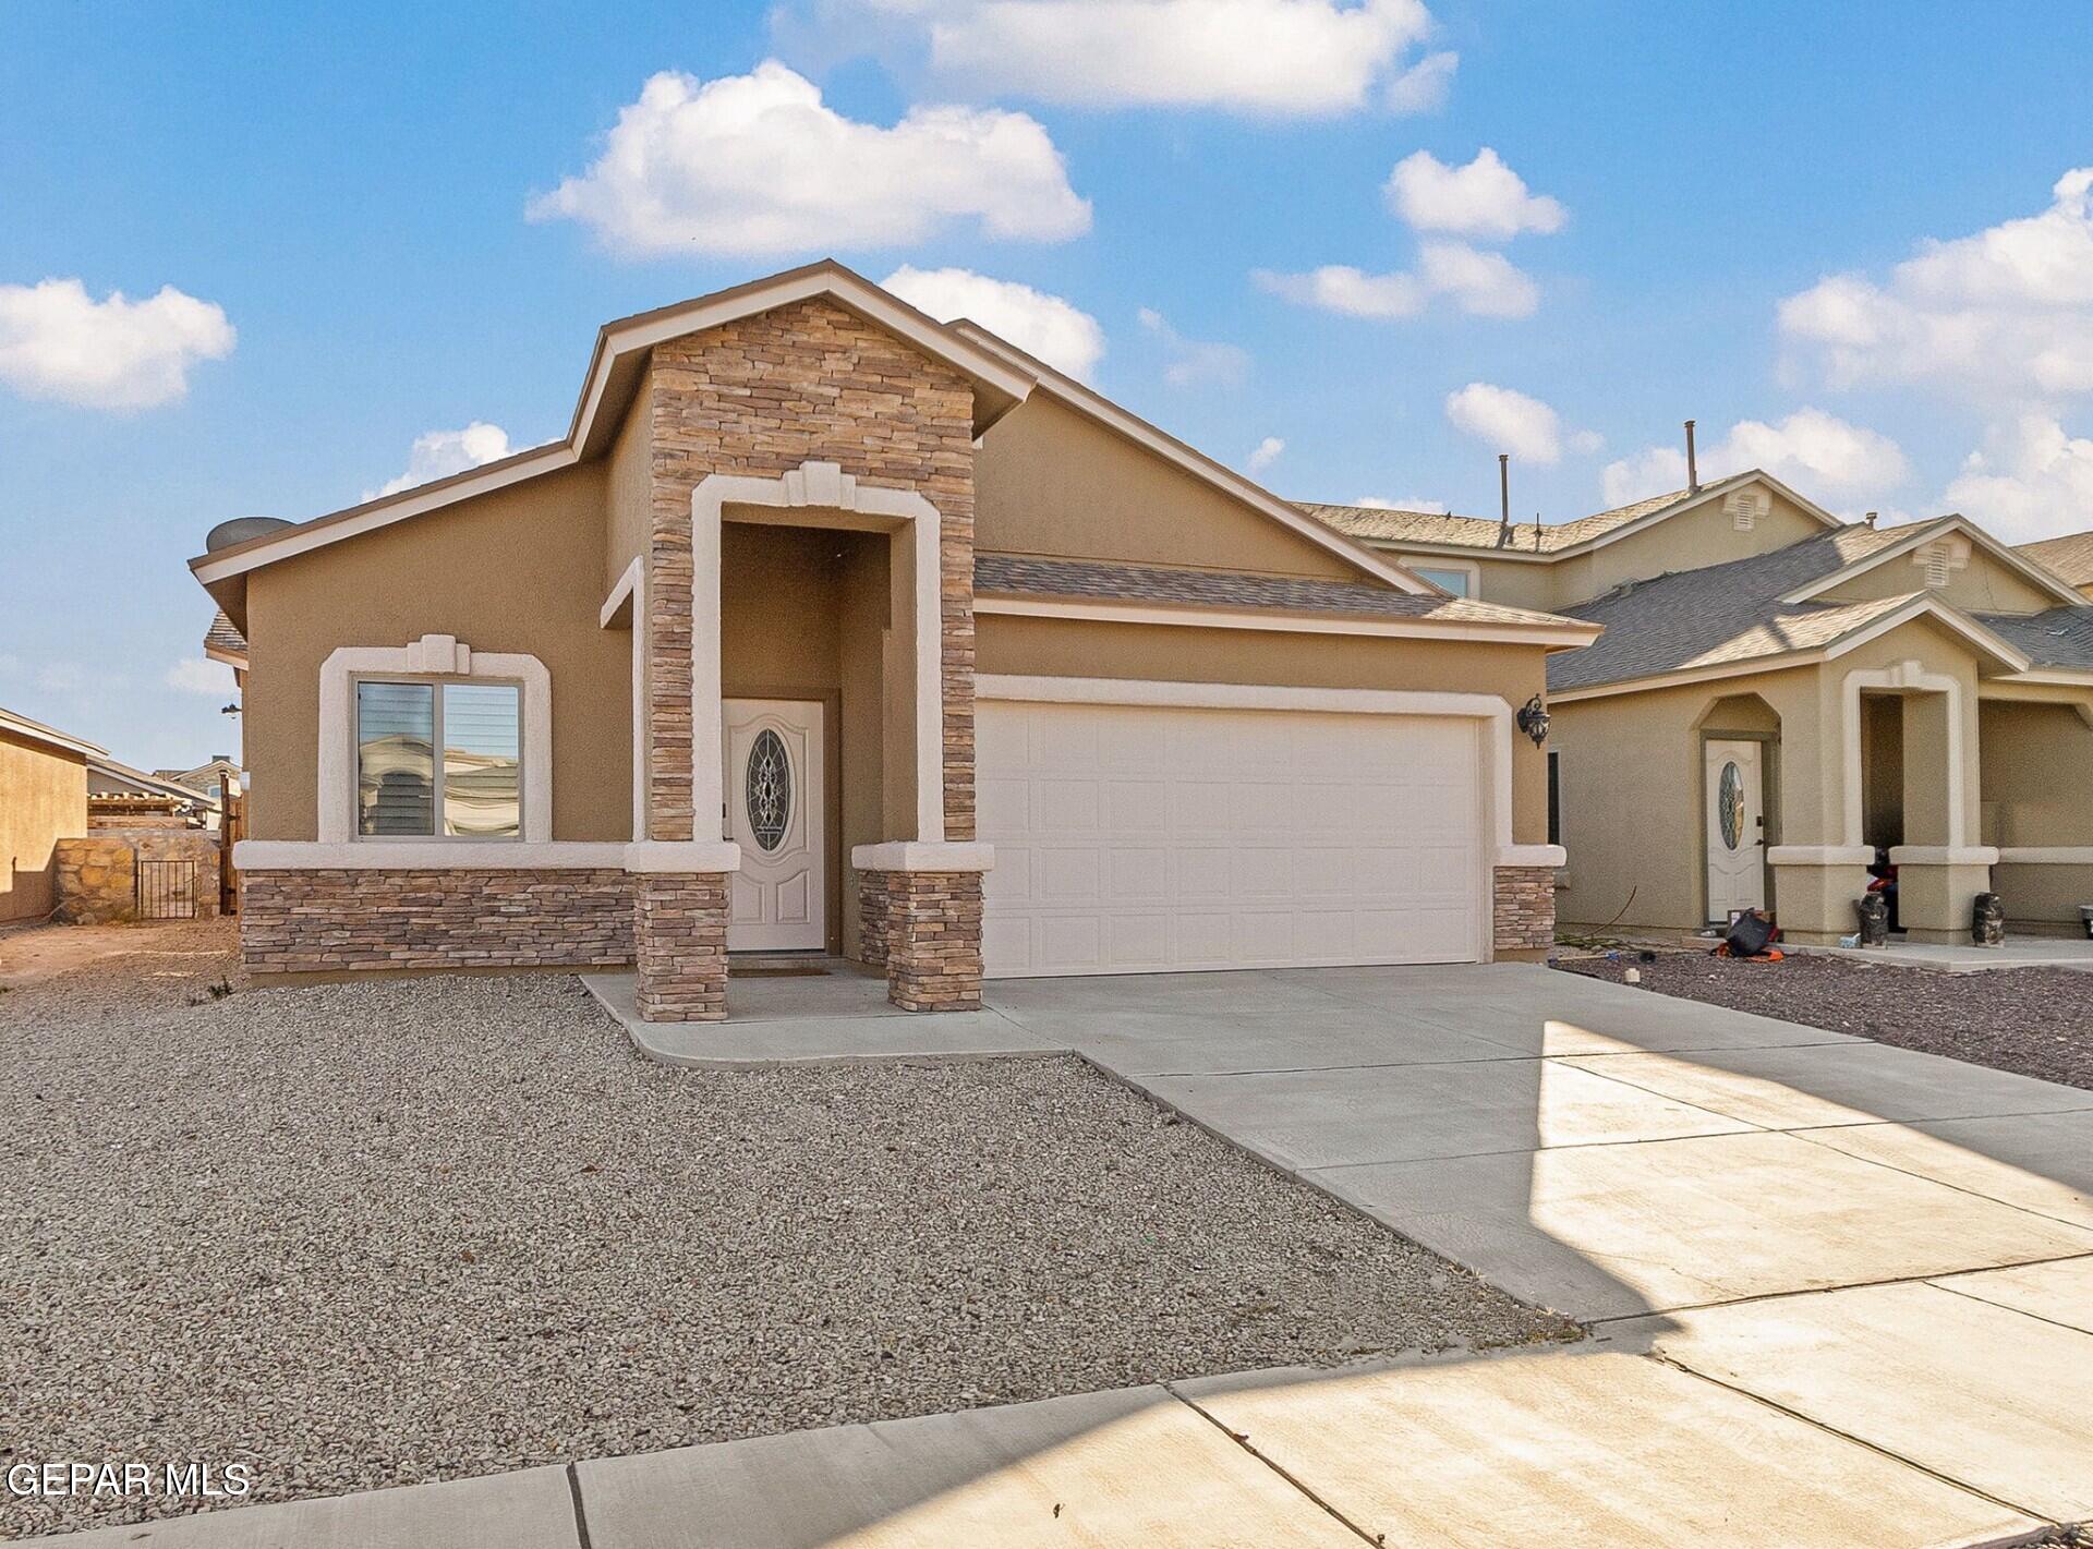
<path fill-rule="evenodd" d="M 2034 967 L 1936 973 L 1813 955 L 1737 963 L 1706 952 L 1660 952 L 1653 963 L 1639 963 L 1633 950 L 1618 963 L 1561 959 L 1555 967 L 1616 984 L 1635 967 L 1643 986 L 1660 994 L 2093 1088 L 2093 973 Z"/>

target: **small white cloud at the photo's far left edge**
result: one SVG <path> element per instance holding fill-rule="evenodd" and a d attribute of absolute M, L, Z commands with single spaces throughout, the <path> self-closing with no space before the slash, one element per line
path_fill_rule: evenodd
<path fill-rule="evenodd" d="M 232 354 L 216 301 L 163 285 L 96 301 L 80 280 L 0 285 L 0 381 L 23 398 L 84 408 L 153 408 L 188 391 L 188 368 Z"/>

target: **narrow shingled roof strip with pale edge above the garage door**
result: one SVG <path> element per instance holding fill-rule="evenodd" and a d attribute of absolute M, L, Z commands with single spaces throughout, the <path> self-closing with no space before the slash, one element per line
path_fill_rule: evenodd
<path fill-rule="evenodd" d="M 1379 582 L 1346 582 L 1308 576 L 1252 576 L 1216 569 L 1164 569 L 1088 559 L 1030 559 L 1019 555 L 977 555 L 973 588 L 984 613 L 996 599 L 1036 597 L 1061 601 L 1149 603 L 1164 609 L 1268 611 L 1354 620 L 1413 620 L 1417 634 L 1515 632 L 1517 638 L 1551 649 L 1576 649 L 1597 638 L 1597 628 L 1557 613 L 1526 607 L 1473 603 L 1440 590 L 1398 592 Z M 1187 620 L 1189 622 L 1189 620 Z"/>

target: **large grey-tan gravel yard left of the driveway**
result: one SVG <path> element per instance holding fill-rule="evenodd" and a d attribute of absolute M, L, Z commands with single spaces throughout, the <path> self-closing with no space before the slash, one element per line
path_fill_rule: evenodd
<path fill-rule="evenodd" d="M 670 1072 L 571 978 L 211 998 L 190 931 L 0 992 L 0 1465 L 262 1501 L 1576 1333 L 1074 1059 Z"/>

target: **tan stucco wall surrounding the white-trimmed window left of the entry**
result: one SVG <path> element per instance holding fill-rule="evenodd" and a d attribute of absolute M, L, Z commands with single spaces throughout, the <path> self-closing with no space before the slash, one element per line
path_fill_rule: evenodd
<path fill-rule="evenodd" d="M 327 655 L 423 634 L 544 661 L 553 837 L 630 837 L 632 636 L 599 626 L 603 507 L 605 471 L 592 463 L 253 571 L 243 697 L 251 837 L 318 835 Z"/>

